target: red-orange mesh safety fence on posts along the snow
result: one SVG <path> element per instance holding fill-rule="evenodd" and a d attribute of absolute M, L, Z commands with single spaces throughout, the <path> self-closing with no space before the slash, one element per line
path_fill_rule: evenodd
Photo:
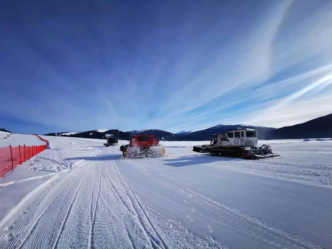
<path fill-rule="evenodd" d="M 0 148 L 0 178 L 7 172 L 13 170 L 15 167 L 46 149 L 48 141 L 38 135 L 36 136 L 46 144 L 32 146 L 19 145 L 17 147 L 8 146 Z"/>

